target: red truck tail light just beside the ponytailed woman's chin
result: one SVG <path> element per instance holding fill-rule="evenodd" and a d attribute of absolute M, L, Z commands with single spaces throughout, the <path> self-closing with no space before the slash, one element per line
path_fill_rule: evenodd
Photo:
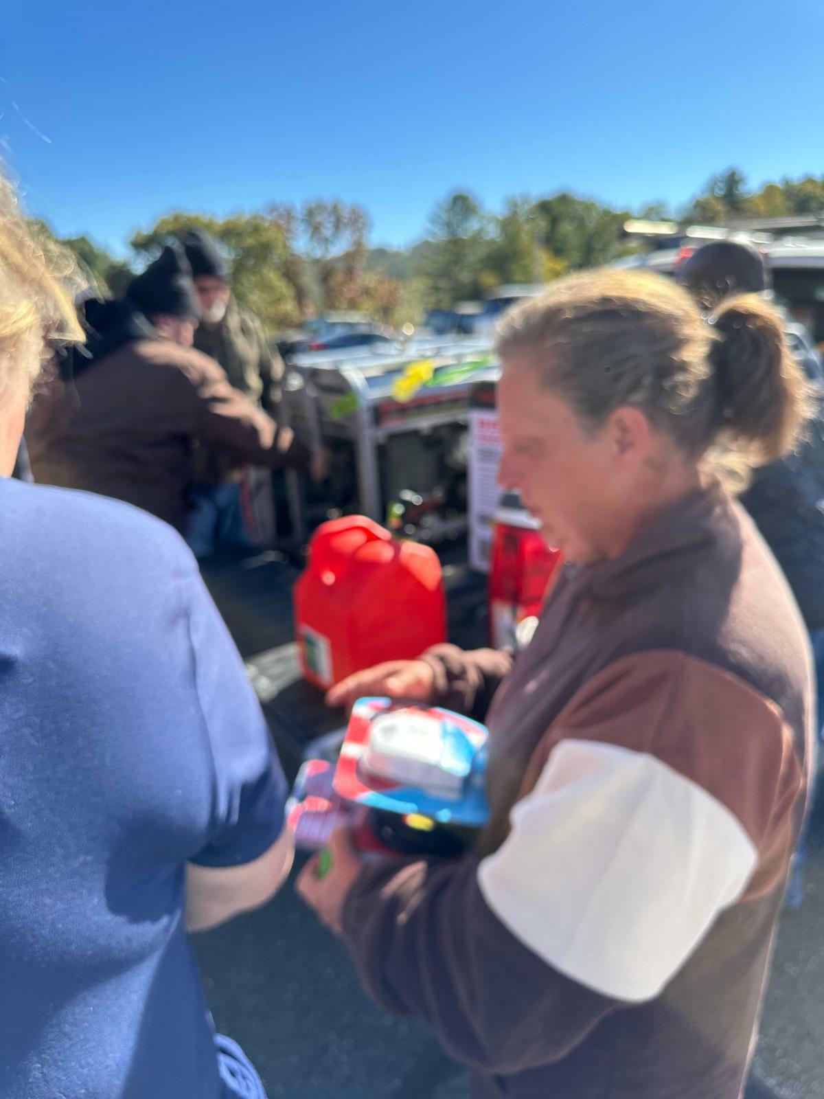
<path fill-rule="evenodd" d="M 494 515 L 489 570 L 489 640 L 495 648 L 512 644 L 519 624 L 541 613 L 561 563 L 560 551 L 547 546 L 539 525 L 516 495 L 503 497 Z"/>

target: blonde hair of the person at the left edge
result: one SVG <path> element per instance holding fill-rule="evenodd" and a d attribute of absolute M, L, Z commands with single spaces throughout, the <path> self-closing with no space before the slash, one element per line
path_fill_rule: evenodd
<path fill-rule="evenodd" d="M 74 307 L 83 286 L 74 256 L 26 221 L 0 176 L 0 399 L 27 396 L 46 342 L 83 340 Z"/>

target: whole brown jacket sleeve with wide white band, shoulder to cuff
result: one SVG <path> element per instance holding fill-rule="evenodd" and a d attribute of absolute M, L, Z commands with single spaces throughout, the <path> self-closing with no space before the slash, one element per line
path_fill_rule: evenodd
<path fill-rule="evenodd" d="M 802 786 L 775 703 L 681 653 L 624 657 L 547 730 L 502 845 L 365 870 L 346 942 L 376 999 L 426 1019 L 455 1058 L 553 1063 L 657 998 L 725 909 L 776 888 Z"/>

